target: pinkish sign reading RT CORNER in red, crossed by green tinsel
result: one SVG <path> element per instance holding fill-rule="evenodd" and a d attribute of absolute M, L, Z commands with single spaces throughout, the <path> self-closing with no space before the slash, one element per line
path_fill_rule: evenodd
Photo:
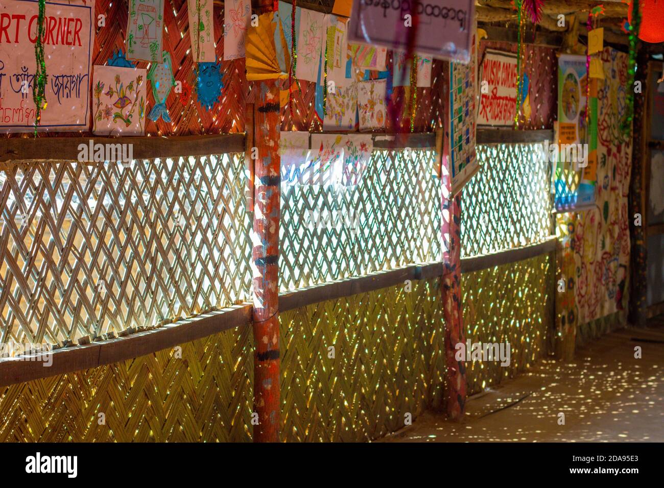
<path fill-rule="evenodd" d="M 38 16 L 36 0 L 0 3 L 0 132 L 34 130 Z M 86 130 L 90 126 L 94 0 L 46 1 L 42 42 L 47 106 L 37 129 Z"/>

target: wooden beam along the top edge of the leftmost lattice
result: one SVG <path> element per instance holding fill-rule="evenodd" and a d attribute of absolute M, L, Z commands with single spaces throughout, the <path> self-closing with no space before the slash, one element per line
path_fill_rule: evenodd
<path fill-rule="evenodd" d="M 0 139 L 0 163 L 35 159 L 77 161 L 81 144 L 131 144 L 134 159 L 243 153 L 244 133 L 177 137 L 9 137 Z"/>

